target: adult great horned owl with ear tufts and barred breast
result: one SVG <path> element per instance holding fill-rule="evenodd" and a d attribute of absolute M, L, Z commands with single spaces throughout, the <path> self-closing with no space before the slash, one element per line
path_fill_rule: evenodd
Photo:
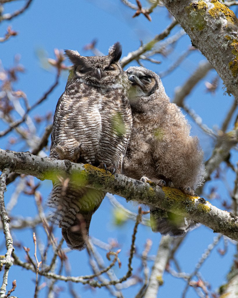
<path fill-rule="evenodd" d="M 132 127 L 129 81 L 119 62 L 121 45 L 114 44 L 107 56 L 83 57 L 72 50 L 65 54 L 73 67 L 56 106 L 50 157 L 120 173 Z M 84 249 L 92 215 L 105 192 L 59 180 L 48 198 L 51 219 L 71 249 Z"/>

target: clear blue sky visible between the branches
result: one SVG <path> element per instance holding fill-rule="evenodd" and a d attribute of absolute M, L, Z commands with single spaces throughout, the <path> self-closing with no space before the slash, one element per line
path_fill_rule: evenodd
<path fill-rule="evenodd" d="M 12 12 L 13 10 L 24 5 L 24 1 L 13 1 L 4 5 L 5 13 Z M 54 58 L 54 49 L 76 49 L 81 55 L 90 56 L 90 51 L 83 49 L 85 44 L 90 43 L 93 39 L 97 39 L 97 48 L 107 54 L 109 46 L 116 41 L 120 41 L 123 46 L 123 55 L 137 49 L 140 46 L 140 40 L 144 43 L 150 41 L 156 34 L 160 33 L 165 27 L 170 24 L 171 19 L 168 17 L 168 12 L 165 8 L 158 7 L 152 13 L 152 22 L 149 22 L 143 15 L 137 18 L 131 18 L 134 14 L 133 10 L 129 9 L 119 0 L 81 0 L 81 1 L 36 1 L 33 0 L 29 9 L 19 17 L 10 22 L 2 22 L 0 27 L 1 36 L 4 35 L 8 24 L 12 25 L 12 29 L 18 32 L 18 35 L 10 38 L 10 40 L 0 45 L 0 59 L 4 68 L 9 68 L 13 65 L 14 56 L 19 54 L 21 56 L 20 63 L 24 65 L 25 72 L 19 75 L 19 80 L 15 83 L 15 89 L 21 89 L 27 94 L 29 103 L 33 104 L 38 98 L 51 86 L 55 78 L 55 69 L 49 67 L 44 69 L 39 59 L 40 57 Z M 171 34 L 174 34 L 181 28 L 174 28 Z M 184 35 L 179 42 L 176 43 L 175 49 L 172 54 L 167 57 L 158 55 L 156 58 L 161 60 L 161 64 L 145 63 L 145 66 L 151 70 L 159 73 L 168 68 L 176 58 L 186 51 L 191 46 L 188 35 Z M 200 60 L 205 60 L 199 51 L 193 51 L 173 73 L 164 77 L 162 82 L 165 86 L 167 94 L 171 100 L 174 96 L 174 89 L 181 86 L 186 79 L 197 68 Z M 67 65 L 69 65 L 68 62 Z M 132 62 L 130 65 L 137 65 Z M 226 113 L 233 102 L 233 97 L 223 95 L 222 82 L 219 81 L 219 87 L 215 95 L 205 93 L 206 87 L 204 82 L 206 80 L 212 81 L 216 76 L 215 71 L 209 72 L 205 79 L 193 89 L 190 96 L 186 99 L 186 103 L 190 105 L 203 119 L 203 123 L 210 128 L 219 128 L 223 122 Z M 50 94 L 48 99 L 44 101 L 40 107 L 30 115 L 44 115 L 47 111 L 54 114 L 55 106 L 58 98 L 65 89 L 67 74 L 63 73 L 60 78 L 60 84 Z M 197 125 L 188 117 L 192 125 L 192 134 L 199 136 L 201 146 L 205 152 L 205 159 L 208 159 L 212 153 L 213 141 L 206 136 Z M 234 117 L 231 123 L 234 123 Z M 229 127 L 232 129 L 232 125 Z M 37 133 L 41 135 L 43 128 Z M 2 141 L 1 148 L 6 149 L 8 137 Z M 13 145 L 12 150 L 26 151 L 28 148 L 22 145 L 23 143 Z M 231 161 L 237 161 L 237 151 L 232 151 Z M 222 165 L 224 172 L 227 174 L 228 184 L 230 187 L 234 186 L 234 175 L 230 170 Z M 8 202 L 11 194 L 15 188 L 15 183 L 9 187 L 6 193 L 6 201 Z M 209 192 L 212 186 L 218 187 L 218 192 L 223 199 L 230 200 L 229 193 L 227 192 L 224 184 L 221 181 L 212 181 L 206 184 L 204 188 L 205 193 Z M 51 190 L 51 181 L 43 181 L 40 190 L 42 191 L 43 198 L 46 200 L 47 195 Z M 206 198 L 205 194 L 204 197 Z M 118 198 L 121 204 L 128 209 L 136 212 L 137 207 L 133 204 L 126 203 L 122 198 Z M 211 200 L 211 203 L 219 208 L 222 208 L 221 201 Z M 26 195 L 21 195 L 17 205 L 13 209 L 13 214 L 18 216 L 34 216 L 36 214 L 36 207 L 34 198 Z M 93 216 L 90 226 L 90 234 L 102 241 L 107 242 L 109 238 L 117 238 L 121 243 L 122 252 L 120 259 L 122 261 L 122 268 L 119 269 L 115 266 L 115 273 L 118 277 L 123 276 L 127 269 L 127 256 L 130 248 L 131 234 L 134 222 L 129 220 L 123 226 L 116 227 L 113 224 L 113 208 L 108 199 L 105 198 L 101 207 Z M 46 237 L 41 227 L 36 229 L 37 236 L 42 238 L 43 244 L 46 243 Z M 60 237 L 60 229 L 55 228 L 55 235 Z M 197 229 L 189 233 L 177 252 L 177 259 L 181 266 L 182 271 L 190 273 L 194 270 L 195 264 L 200 259 L 206 247 L 212 242 L 214 234 L 212 230 L 205 226 L 199 226 Z M 22 231 L 13 231 L 15 240 L 21 241 L 24 246 L 31 248 L 33 255 L 33 241 L 32 230 L 25 229 Z M 151 229 L 145 226 L 139 226 L 137 234 L 136 246 L 138 252 L 141 253 L 144 249 L 145 240 L 151 238 L 153 246 L 150 254 L 156 254 L 157 247 L 160 240 L 160 235 L 151 232 Z M 1 253 L 4 254 L 4 237 L 0 236 Z M 64 244 L 65 245 L 65 244 Z M 219 248 L 223 248 L 223 240 L 218 244 Z M 102 253 L 104 260 L 105 251 L 99 249 Z M 16 248 L 16 253 L 24 259 L 25 253 L 23 249 Z M 205 261 L 201 268 L 201 274 L 204 279 L 211 283 L 212 291 L 222 285 L 226 281 L 226 274 L 231 267 L 233 255 L 235 253 L 235 246 L 229 242 L 228 252 L 221 256 L 214 249 L 211 256 Z M 72 275 L 90 274 L 91 269 L 88 266 L 87 253 L 73 251 L 68 254 L 71 262 Z M 106 266 L 108 265 L 108 261 Z M 133 261 L 135 271 L 140 266 L 140 260 L 135 258 Z M 152 262 L 149 262 L 150 267 Z M 219 272 L 219 274 L 217 274 Z M 1 273 L 2 274 L 2 273 Z M 65 274 L 65 272 L 63 273 Z M 11 281 L 17 280 L 17 288 L 15 295 L 18 297 L 33 297 L 34 295 L 34 274 L 19 267 L 12 267 L 9 273 L 9 288 Z M 158 297 L 180 297 L 184 289 L 185 283 L 183 280 L 178 280 L 171 277 L 168 273 L 164 276 L 165 283 L 159 290 Z M 43 279 L 41 280 L 41 283 Z M 27 285 L 27 286 L 26 286 Z M 59 286 L 65 289 L 60 294 L 60 297 L 71 297 L 68 294 L 66 283 L 58 283 Z M 124 297 L 134 297 L 139 290 L 140 285 L 131 287 L 125 290 Z M 81 297 L 110 297 L 109 292 L 105 289 L 96 289 L 91 291 L 87 287 L 80 284 L 74 285 L 74 289 Z M 43 289 L 39 297 L 46 297 L 46 291 Z M 198 297 L 193 289 L 190 289 L 187 297 Z"/>

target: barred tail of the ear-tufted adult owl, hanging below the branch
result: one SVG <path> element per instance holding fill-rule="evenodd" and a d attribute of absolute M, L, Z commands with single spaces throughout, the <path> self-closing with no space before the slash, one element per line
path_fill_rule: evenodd
<path fill-rule="evenodd" d="M 54 183 L 47 205 L 50 220 L 62 228 L 62 236 L 71 249 L 84 249 L 93 213 L 100 206 L 105 192 L 87 187 L 63 186 Z"/>

